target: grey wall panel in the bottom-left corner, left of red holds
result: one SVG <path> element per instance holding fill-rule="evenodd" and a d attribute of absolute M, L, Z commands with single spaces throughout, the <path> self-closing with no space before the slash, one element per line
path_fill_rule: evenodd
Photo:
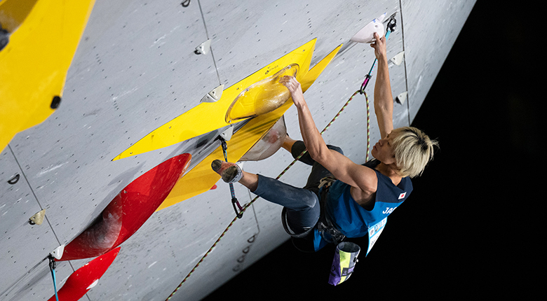
<path fill-rule="evenodd" d="M 19 175 L 18 181 L 15 175 Z M 49 211 L 41 225 L 29 224 L 29 218 L 42 208 L 9 147 L 0 154 L 0 178 L 0 266 L 4 271 L 0 298 L 40 300 L 40 290 L 53 292 L 48 261 L 43 259 L 59 246 L 48 222 Z M 13 184 L 8 183 L 10 179 Z M 72 272 L 68 267 L 61 273 Z"/>

